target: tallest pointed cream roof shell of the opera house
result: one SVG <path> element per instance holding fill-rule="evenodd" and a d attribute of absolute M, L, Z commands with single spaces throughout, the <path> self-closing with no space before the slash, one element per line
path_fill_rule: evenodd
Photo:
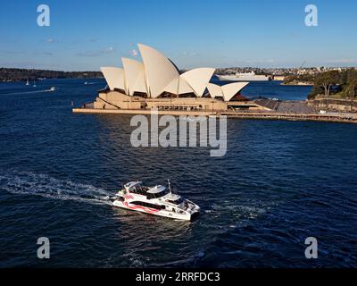
<path fill-rule="evenodd" d="M 137 44 L 145 64 L 150 97 L 159 97 L 172 80 L 179 77 L 179 71 L 170 60 L 150 46 Z"/>

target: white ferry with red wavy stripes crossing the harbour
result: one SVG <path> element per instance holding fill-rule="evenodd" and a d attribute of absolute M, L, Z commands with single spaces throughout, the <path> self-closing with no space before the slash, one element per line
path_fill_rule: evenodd
<path fill-rule="evenodd" d="M 192 221 L 200 212 L 199 206 L 171 192 L 170 181 L 168 188 L 146 187 L 141 181 L 129 181 L 112 198 L 112 206 L 184 221 Z"/>

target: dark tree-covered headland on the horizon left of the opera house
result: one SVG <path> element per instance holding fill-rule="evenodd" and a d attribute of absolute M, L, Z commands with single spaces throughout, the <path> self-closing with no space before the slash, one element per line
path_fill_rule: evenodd
<path fill-rule="evenodd" d="M 47 71 L 0 68 L 0 81 L 103 78 L 101 71 Z"/>

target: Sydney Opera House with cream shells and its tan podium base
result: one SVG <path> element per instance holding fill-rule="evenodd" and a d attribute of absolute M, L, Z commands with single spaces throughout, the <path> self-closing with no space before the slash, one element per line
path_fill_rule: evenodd
<path fill-rule="evenodd" d="M 101 68 L 107 86 L 99 90 L 94 109 L 212 111 L 228 110 L 246 101 L 240 91 L 248 82 L 216 85 L 210 82 L 215 69 L 181 73 L 153 47 L 138 44 L 138 48 L 143 63 L 122 58 L 122 68 Z"/>

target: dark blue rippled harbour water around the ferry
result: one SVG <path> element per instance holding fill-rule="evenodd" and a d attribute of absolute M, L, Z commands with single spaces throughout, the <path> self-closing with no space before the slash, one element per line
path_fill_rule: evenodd
<path fill-rule="evenodd" d="M 0 266 L 357 266 L 357 125 L 229 120 L 220 158 L 204 147 L 134 148 L 130 116 L 71 113 L 71 101 L 103 87 L 89 81 L 0 84 Z M 194 223 L 106 198 L 121 182 L 168 178 L 202 207 Z M 37 259 L 43 236 L 47 260 Z M 311 236 L 314 260 L 304 257 Z"/>

